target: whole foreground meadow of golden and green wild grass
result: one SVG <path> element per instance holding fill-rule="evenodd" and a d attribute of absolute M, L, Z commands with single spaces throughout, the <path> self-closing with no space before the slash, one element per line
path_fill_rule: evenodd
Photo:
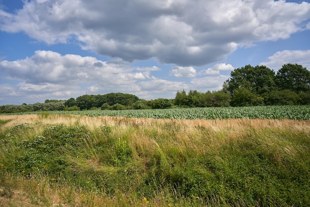
<path fill-rule="evenodd" d="M 310 120 L 0 120 L 0 206 L 310 206 Z"/>

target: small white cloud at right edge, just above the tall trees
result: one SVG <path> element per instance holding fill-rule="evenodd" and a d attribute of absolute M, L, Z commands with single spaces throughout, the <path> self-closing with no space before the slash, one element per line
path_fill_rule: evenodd
<path fill-rule="evenodd" d="M 287 63 L 297 63 L 307 67 L 310 70 L 310 50 L 307 51 L 280 51 L 268 57 L 267 62 L 261 62 L 260 65 L 265 65 L 275 71 L 280 69 L 282 65 Z"/>

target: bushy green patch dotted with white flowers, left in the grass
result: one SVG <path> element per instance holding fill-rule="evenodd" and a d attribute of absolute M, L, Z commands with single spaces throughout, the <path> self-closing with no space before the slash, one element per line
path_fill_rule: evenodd
<path fill-rule="evenodd" d="M 11 131 L 20 127 L 17 125 Z M 31 140 L 17 143 L 20 153 L 8 169 L 25 175 L 30 175 L 37 169 L 49 175 L 69 173 L 63 149 L 71 155 L 78 154 L 82 144 L 85 144 L 86 136 L 88 131 L 85 127 L 65 127 L 62 124 L 50 126 L 43 131 L 43 136 L 35 135 Z"/>

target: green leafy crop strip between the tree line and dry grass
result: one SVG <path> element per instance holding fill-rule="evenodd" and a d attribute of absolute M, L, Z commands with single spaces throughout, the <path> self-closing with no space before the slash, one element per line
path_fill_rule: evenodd
<path fill-rule="evenodd" d="M 23 112 L 16 114 L 28 114 Z M 37 111 L 33 113 L 42 113 Z M 88 116 L 124 116 L 131 118 L 168 118 L 168 119 L 310 119 L 310 105 L 295 106 L 249 106 L 249 107 L 205 107 L 169 108 L 143 110 L 85 110 L 50 111 L 57 114 L 76 114 Z"/>

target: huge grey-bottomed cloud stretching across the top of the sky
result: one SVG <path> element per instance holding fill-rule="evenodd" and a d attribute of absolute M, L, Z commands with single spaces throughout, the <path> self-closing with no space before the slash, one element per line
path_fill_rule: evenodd
<path fill-rule="evenodd" d="M 309 29 L 310 3 L 285 0 L 31 0 L 0 10 L 0 30 L 47 44 L 78 41 L 125 61 L 202 66 L 238 47 Z"/>

